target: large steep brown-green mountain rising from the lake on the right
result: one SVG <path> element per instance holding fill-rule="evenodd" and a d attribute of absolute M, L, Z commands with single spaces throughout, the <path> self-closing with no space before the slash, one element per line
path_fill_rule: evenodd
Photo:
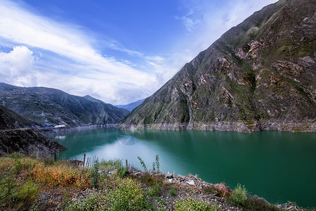
<path fill-rule="evenodd" d="M 121 128 L 315 132 L 316 1 L 281 0 L 225 32 Z"/>

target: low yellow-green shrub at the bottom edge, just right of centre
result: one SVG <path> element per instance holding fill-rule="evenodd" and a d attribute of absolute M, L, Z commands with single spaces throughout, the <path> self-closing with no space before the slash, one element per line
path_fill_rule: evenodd
<path fill-rule="evenodd" d="M 186 200 L 177 200 L 175 205 L 175 210 L 186 211 L 186 210 L 201 210 L 201 211 L 212 211 L 220 210 L 217 205 L 206 203 L 202 200 L 197 200 L 194 198 L 187 198 Z"/>

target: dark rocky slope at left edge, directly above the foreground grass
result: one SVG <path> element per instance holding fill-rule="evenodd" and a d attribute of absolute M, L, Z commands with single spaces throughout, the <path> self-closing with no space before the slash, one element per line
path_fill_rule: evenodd
<path fill-rule="evenodd" d="M 39 157 L 51 157 L 55 152 L 65 151 L 66 148 L 56 141 L 51 141 L 32 129 L 10 129 L 0 131 L 0 155 L 24 153 Z"/>

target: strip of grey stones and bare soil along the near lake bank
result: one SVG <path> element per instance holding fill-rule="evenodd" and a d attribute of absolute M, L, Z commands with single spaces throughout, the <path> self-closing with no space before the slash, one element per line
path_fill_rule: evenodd
<path fill-rule="evenodd" d="M 213 203 L 220 207 L 220 210 L 243 210 L 241 207 L 237 207 L 236 205 L 232 205 L 230 200 L 230 194 L 232 193 L 232 189 L 229 186 L 226 186 L 223 183 L 220 184 L 210 184 L 202 179 L 200 179 L 197 175 L 189 174 L 187 176 L 183 175 L 175 175 L 164 173 L 155 173 L 155 172 L 143 172 L 141 170 L 136 170 L 133 168 L 129 169 L 129 177 L 136 177 L 141 180 L 142 177 L 146 177 L 146 175 L 150 175 L 151 177 L 155 177 L 157 179 L 162 179 L 164 184 L 169 184 L 169 186 L 175 188 L 176 191 L 176 200 L 185 199 L 188 197 L 193 197 L 198 200 L 204 200 L 209 203 Z M 145 187 L 147 188 L 147 187 Z M 175 198 L 171 198 L 169 195 L 169 189 L 163 190 L 162 195 L 160 196 L 169 207 L 166 207 L 167 210 L 173 209 L 173 201 Z M 166 193 L 164 193 L 166 192 Z M 270 204 L 264 198 L 259 196 L 251 196 L 251 200 L 256 203 L 260 203 L 261 206 L 270 207 L 270 210 L 303 210 L 301 207 L 298 207 L 294 203 L 288 202 L 284 204 Z"/>

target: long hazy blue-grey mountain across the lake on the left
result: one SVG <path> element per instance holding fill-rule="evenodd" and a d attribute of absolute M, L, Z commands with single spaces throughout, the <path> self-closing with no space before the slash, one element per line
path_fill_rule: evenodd
<path fill-rule="evenodd" d="M 0 83 L 0 103 L 39 125 L 115 124 L 129 113 L 110 104 L 97 103 L 46 87 L 15 87 Z"/>

